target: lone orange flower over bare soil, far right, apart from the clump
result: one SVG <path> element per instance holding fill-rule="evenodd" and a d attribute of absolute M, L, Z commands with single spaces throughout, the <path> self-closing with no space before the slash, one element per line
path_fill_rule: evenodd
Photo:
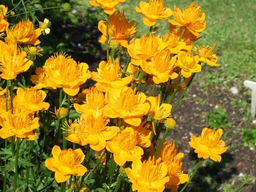
<path fill-rule="evenodd" d="M 228 147 L 225 147 L 225 142 L 220 140 L 222 132 L 222 129 L 218 129 L 215 132 L 215 130 L 205 127 L 202 130 L 201 136 L 191 136 L 189 145 L 195 149 L 198 158 L 210 158 L 221 162 L 221 154 L 228 149 Z"/>

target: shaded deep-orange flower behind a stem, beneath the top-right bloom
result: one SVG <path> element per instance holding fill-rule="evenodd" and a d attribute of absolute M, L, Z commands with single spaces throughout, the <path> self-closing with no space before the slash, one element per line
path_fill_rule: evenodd
<path fill-rule="evenodd" d="M 176 28 L 176 26 L 172 25 L 171 23 L 169 24 L 169 32 L 175 35 L 176 40 L 180 39 L 183 29 L 184 26 L 178 26 L 178 28 Z M 193 43 L 201 38 L 202 36 L 197 37 L 189 30 L 185 30 L 185 33 L 183 34 L 181 39 L 182 42 L 186 43 L 186 46 L 184 46 L 183 49 L 190 51 L 193 47 Z"/>

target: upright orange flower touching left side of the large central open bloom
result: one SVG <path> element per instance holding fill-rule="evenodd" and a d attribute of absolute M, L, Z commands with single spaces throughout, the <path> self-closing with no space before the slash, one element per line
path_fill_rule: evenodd
<path fill-rule="evenodd" d="M 78 113 L 82 113 L 82 118 L 86 118 L 88 115 L 103 117 L 103 111 L 107 107 L 107 103 L 103 93 L 97 87 L 91 87 L 83 104 L 74 103 L 74 108 Z"/>

